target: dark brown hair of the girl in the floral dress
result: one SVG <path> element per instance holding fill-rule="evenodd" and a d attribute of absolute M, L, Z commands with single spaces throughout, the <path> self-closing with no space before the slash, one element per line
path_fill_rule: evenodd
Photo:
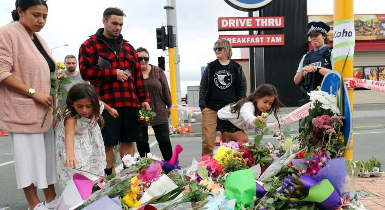
<path fill-rule="evenodd" d="M 79 119 L 80 116 L 75 111 L 74 102 L 79 99 L 88 99 L 92 103 L 93 107 L 93 126 L 96 126 L 97 121 L 100 121 L 101 127 L 104 126 L 104 119 L 100 114 L 100 104 L 95 89 L 90 84 L 78 83 L 71 87 L 68 91 L 66 106 L 63 108 L 61 118 L 65 121 L 71 117 Z"/>

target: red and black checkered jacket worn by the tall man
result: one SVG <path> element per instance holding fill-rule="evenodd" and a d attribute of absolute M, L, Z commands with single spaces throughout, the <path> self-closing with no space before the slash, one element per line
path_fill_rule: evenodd
<path fill-rule="evenodd" d="M 103 39 L 93 35 L 79 49 L 79 69 L 82 78 L 94 84 L 100 99 L 111 107 L 131 106 L 139 108 L 142 102 L 150 102 L 144 86 L 138 56 L 126 40 L 119 43 L 120 53 L 115 52 Z M 109 68 L 99 68 L 99 56 L 111 63 Z M 116 69 L 128 69 L 131 76 L 126 82 L 117 80 Z"/>

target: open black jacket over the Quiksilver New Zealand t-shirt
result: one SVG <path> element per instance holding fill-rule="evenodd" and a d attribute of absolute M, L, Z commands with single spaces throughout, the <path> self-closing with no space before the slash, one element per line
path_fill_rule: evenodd
<path fill-rule="evenodd" d="M 211 99 L 212 92 L 212 84 L 214 73 L 216 72 L 216 66 L 219 64 L 218 59 L 215 61 L 208 63 L 205 71 L 203 72 L 202 79 L 199 84 L 199 107 L 203 110 L 207 105 L 207 103 Z M 242 66 L 239 63 L 236 63 L 233 60 L 230 60 L 229 65 L 232 66 L 235 72 L 235 95 L 237 96 L 237 101 L 246 97 L 247 92 L 247 84 L 246 77 L 243 73 Z"/>

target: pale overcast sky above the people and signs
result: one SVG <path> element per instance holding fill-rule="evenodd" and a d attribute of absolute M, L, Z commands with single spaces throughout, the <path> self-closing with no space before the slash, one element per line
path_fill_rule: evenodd
<path fill-rule="evenodd" d="M 289 1 L 289 0 L 288 0 Z M 294 1 L 294 0 L 290 0 Z M 156 49 L 155 28 L 167 25 L 166 0 L 48 0 L 48 21 L 40 31 L 57 62 L 67 54 L 77 57 L 79 46 L 103 27 L 102 14 L 107 7 L 119 7 L 126 13 L 122 35 L 135 48 L 150 52 L 150 63 L 166 52 Z M 385 14 L 385 0 L 354 0 L 354 14 Z M 0 25 L 12 20 L 15 0 L 0 0 Z M 219 35 L 247 32 L 218 32 L 218 17 L 246 17 L 247 12 L 233 9 L 224 0 L 176 0 L 182 96 L 187 86 L 199 85 L 200 69 L 215 59 L 213 42 Z M 333 14 L 333 0 L 308 0 L 308 15 Z M 305 26 L 299 26 L 305 27 Z M 233 59 L 240 50 L 233 50 Z M 168 57 L 167 57 L 168 61 Z M 166 63 L 168 69 L 168 63 Z M 169 77 L 169 72 L 166 72 Z"/>

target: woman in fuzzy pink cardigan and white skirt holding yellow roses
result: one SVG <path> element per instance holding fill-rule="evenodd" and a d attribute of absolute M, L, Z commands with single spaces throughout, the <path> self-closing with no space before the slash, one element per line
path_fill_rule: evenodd
<path fill-rule="evenodd" d="M 0 27 L 0 130 L 10 133 L 18 189 L 23 189 L 29 209 L 55 208 L 58 182 L 55 165 L 53 104 L 50 72 L 55 61 L 36 33 L 47 21 L 45 0 L 16 0 L 14 22 Z M 37 188 L 46 203 L 40 203 Z"/>

